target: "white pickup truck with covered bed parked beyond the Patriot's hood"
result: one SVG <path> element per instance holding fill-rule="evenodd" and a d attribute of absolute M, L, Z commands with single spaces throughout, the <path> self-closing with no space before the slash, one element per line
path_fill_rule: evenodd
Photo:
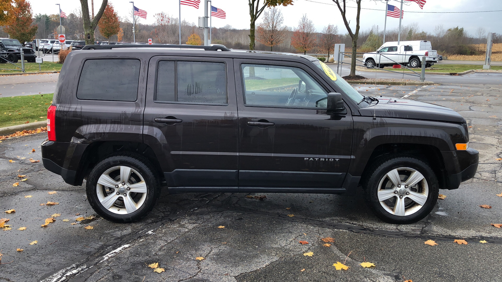
<path fill-rule="evenodd" d="M 420 68 L 422 57 L 425 56 L 425 66 L 428 68 L 438 61 L 437 51 L 431 49 L 430 41 L 401 41 L 399 45 L 398 42 L 386 42 L 378 51 L 365 53 L 362 60 L 368 69 L 397 64 Z"/>

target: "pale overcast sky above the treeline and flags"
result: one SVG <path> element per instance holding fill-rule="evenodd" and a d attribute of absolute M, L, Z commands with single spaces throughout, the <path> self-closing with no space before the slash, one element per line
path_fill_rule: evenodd
<path fill-rule="evenodd" d="M 262 2 L 262 0 L 259 0 Z M 313 2 L 314 1 L 314 2 Z M 61 4 L 61 10 L 67 15 L 80 8 L 79 0 L 28 0 L 31 3 L 34 14 L 57 14 Z M 90 10 L 89 0 L 89 10 Z M 102 0 L 94 0 L 94 13 L 97 13 Z M 315 3 L 318 2 L 318 3 Z M 347 1 L 347 6 L 355 6 L 352 1 Z M 408 1 L 405 1 L 407 3 Z M 128 17 L 132 10 L 129 0 L 108 0 L 115 7 L 119 17 Z M 135 6 L 148 12 L 147 20 L 141 19 L 141 23 L 151 24 L 155 21 L 154 15 L 158 12 L 166 12 L 178 17 L 177 0 L 137 0 Z M 204 16 L 204 0 L 201 0 L 199 9 L 189 6 L 181 6 L 181 18 L 196 23 L 198 17 Z M 339 33 L 346 33 L 340 13 L 331 0 L 294 0 L 293 6 L 281 7 L 285 25 L 296 27 L 302 14 L 314 22 L 318 32 L 329 24 L 337 25 Z M 400 7 L 400 1 L 390 0 L 389 4 Z M 426 14 L 406 13 L 409 12 L 468 12 L 468 11 L 494 11 L 502 10 L 502 0 L 427 0 L 424 9 L 418 4 L 408 2 L 403 6 L 404 19 L 402 25 L 418 23 L 424 31 L 432 33 L 436 25 L 442 24 L 445 29 L 450 27 L 463 27 L 469 34 L 474 35 L 478 27 L 483 27 L 487 32 L 502 34 L 502 12 L 468 13 L 468 14 Z M 226 19 L 213 18 L 214 27 L 231 25 L 236 29 L 249 29 L 249 7 L 247 0 L 213 0 L 214 7 L 226 12 Z M 385 10 L 385 3 L 374 0 L 362 0 L 363 8 Z M 348 18 L 352 19 L 351 26 L 355 26 L 356 9 L 347 9 Z M 387 17 L 387 28 L 399 26 L 399 19 Z M 384 28 L 385 11 L 361 10 L 361 30 L 368 30 L 372 25 Z M 260 22 L 260 20 L 258 21 Z"/>

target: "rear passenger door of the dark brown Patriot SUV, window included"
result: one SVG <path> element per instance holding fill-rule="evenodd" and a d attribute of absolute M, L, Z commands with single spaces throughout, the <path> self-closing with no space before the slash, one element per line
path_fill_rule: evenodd
<path fill-rule="evenodd" d="M 148 81 L 144 140 L 168 187 L 237 187 L 232 59 L 156 56 Z"/>

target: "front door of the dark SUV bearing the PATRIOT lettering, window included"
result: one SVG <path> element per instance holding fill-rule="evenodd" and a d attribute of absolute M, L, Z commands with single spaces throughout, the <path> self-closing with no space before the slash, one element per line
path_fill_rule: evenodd
<path fill-rule="evenodd" d="M 245 187 L 342 187 L 351 160 L 352 117 L 326 114 L 329 89 L 309 67 L 234 60 L 239 191 Z"/>

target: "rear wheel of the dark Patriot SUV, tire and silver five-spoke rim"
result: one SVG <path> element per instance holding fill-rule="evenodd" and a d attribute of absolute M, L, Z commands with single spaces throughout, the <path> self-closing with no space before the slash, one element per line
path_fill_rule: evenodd
<path fill-rule="evenodd" d="M 121 174 L 128 171 L 129 179 L 122 186 L 121 183 L 126 181 Z M 140 155 L 124 153 L 108 157 L 97 163 L 87 177 L 89 204 L 109 221 L 138 221 L 153 209 L 161 192 L 158 176 L 154 172 L 153 165 Z M 139 184 L 142 182 L 143 185 Z M 112 187 L 106 186 L 106 183 Z M 137 184 L 136 187 L 133 184 Z"/>

